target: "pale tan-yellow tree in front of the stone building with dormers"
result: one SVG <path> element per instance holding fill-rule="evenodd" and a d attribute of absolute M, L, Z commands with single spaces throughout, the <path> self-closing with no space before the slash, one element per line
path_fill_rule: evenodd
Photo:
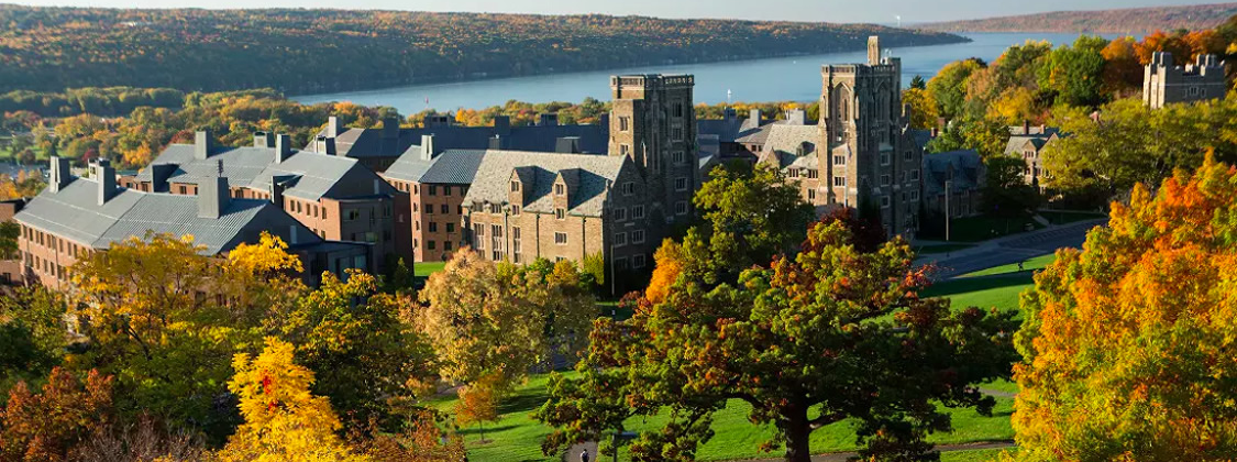
<path fill-rule="evenodd" d="M 442 377 L 461 383 L 490 374 L 510 383 L 555 351 L 574 355 L 596 316 L 569 261 L 495 264 L 471 250 L 456 251 L 419 296 L 414 323 Z"/>

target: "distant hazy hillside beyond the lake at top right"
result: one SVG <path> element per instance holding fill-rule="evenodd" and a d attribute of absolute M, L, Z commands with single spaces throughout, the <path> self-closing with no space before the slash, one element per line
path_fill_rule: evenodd
<path fill-rule="evenodd" d="M 1237 15 L 1237 4 L 1158 6 L 1102 11 L 1054 11 L 1038 15 L 925 24 L 950 32 L 1092 32 L 1142 35 L 1154 31 L 1212 28 Z"/>

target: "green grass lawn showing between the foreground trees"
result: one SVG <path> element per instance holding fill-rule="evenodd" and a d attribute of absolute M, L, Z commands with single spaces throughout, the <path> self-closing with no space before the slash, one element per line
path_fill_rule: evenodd
<path fill-rule="evenodd" d="M 1034 260 L 1037 265 L 1045 261 Z M 1042 266 L 1042 265 L 1040 265 Z M 422 274 L 418 265 L 417 274 Z M 1028 264 L 1027 269 L 1032 269 Z M 996 271 L 996 269 L 993 269 Z M 980 306 L 996 307 L 998 310 L 1017 310 L 1018 294 L 1032 286 L 1030 271 L 1002 275 L 992 272 L 988 277 L 956 279 L 938 284 L 925 294 L 928 296 L 945 296 L 952 300 L 954 307 Z M 605 303 L 602 303 L 605 305 Z M 606 305 L 607 306 L 607 305 Z M 626 315 L 626 313 L 623 313 Z M 625 316 L 620 316 L 625 317 Z M 568 375 L 574 373 L 568 372 Z M 531 417 L 531 414 L 546 400 L 546 384 L 548 375 L 534 375 L 515 391 L 500 406 L 500 420 L 485 427 L 463 429 L 465 440 L 469 443 L 469 457 L 476 461 L 554 461 L 555 457 L 546 457 L 541 452 L 541 441 L 549 427 L 541 425 Z M 1013 399 L 1008 394 L 1017 393 L 1017 386 L 1008 381 L 998 381 L 983 385 L 987 390 L 995 390 L 1003 396 L 997 396 L 997 408 L 993 416 L 985 417 L 974 410 L 952 410 L 955 431 L 951 434 L 931 435 L 930 441 L 940 445 L 965 445 L 992 441 L 1009 441 L 1013 438 L 1013 429 L 1009 425 L 1009 415 L 1013 411 Z M 450 411 L 455 405 L 454 395 L 442 396 L 433 403 L 440 410 Z M 772 429 L 757 426 L 747 420 L 748 405 L 742 401 L 732 401 L 717 412 L 714 419 L 715 435 L 708 445 L 698 452 L 698 458 L 705 461 L 725 461 L 742 458 L 777 458 L 779 452 L 762 453 L 760 446 L 764 442 Z M 654 429 L 664 422 L 662 416 L 648 420 L 635 419 L 628 422 L 631 430 Z M 481 442 L 481 435 L 486 442 Z M 811 448 L 814 452 L 845 452 L 856 448 L 855 434 L 851 422 L 839 422 L 813 434 Z M 945 452 L 943 461 L 987 461 L 999 455 L 999 450 L 965 450 Z M 627 460 L 620 457 L 620 460 Z"/>

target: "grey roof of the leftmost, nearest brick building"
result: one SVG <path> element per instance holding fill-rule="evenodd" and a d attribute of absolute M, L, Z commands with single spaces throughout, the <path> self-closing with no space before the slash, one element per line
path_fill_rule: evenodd
<path fill-rule="evenodd" d="M 198 217 L 198 197 L 147 193 L 124 187 L 103 206 L 98 204 L 99 185 L 75 178 L 59 192 L 45 190 L 14 219 L 28 227 L 106 249 L 129 237 L 147 232 L 173 235 L 192 234 L 203 254 L 215 255 L 242 242 L 255 239 L 261 230 L 299 229 L 298 244 L 318 243 L 318 238 L 268 201 L 233 198 L 218 218 Z"/>

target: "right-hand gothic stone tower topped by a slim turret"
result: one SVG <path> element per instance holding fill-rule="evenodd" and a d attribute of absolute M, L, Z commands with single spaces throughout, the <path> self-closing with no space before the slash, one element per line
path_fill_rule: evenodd
<path fill-rule="evenodd" d="M 824 175 L 818 206 L 877 214 L 889 235 L 912 235 L 919 213 L 922 152 L 910 142 L 902 107 L 902 61 L 867 41 L 867 63 L 823 66 L 818 155 Z"/>

